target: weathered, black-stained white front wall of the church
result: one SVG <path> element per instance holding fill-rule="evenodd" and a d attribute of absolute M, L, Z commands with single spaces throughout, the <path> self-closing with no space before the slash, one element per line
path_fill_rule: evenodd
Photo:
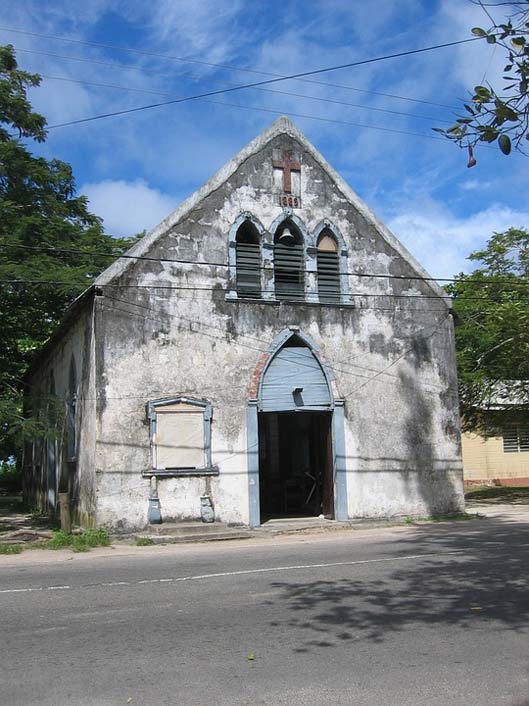
<path fill-rule="evenodd" d="M 321 346 L 345 399 L 349 515 L 431 515 L 463 506 L 446 304 L 424 281 L 406 279 L 417 271 L 304 145 L 283 134 L 249 155 L 170 225 L 149 257 L 228 262 L 230 229 L 249 212 L 262 225 L 270 264 L 272 225 L 284 213 L 273 193 L 273 149 L 302 154 L 302 208 L 294 216 L 306 245 L 315 245 L 314 234 L 329 219 L 345 241 L 349 271 L 404 279 L 349 277 L 352 305 L 343 307 L 227 300 L 233 282 L 225 268 L 170 262 L 137 261 L 103 286 L 96 313 L 100 523 L 122 529 L 146 523 L 145 405 L 179 395 L 207 398 L 213 406 L 212 460 L 220 474 L 210 482 L 217 518 L 248 522 L 248 389 L 259 357 L 288 326 L 299 326 Z M 315 279 L 307 279 L 314 294 Z M 205 483 L 160 480 L 164 518 L 198 517 Z"/>

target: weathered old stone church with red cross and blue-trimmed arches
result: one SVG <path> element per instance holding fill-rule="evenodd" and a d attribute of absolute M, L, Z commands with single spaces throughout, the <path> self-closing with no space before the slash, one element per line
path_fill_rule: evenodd
<path fill-rule="evenodd" d="M 37 410 L 57 433 L 26 498 L 81 526 L 463 508 L 450 299 L 284 117 L 97 278 L 27 383 L 63 412 Z"/>

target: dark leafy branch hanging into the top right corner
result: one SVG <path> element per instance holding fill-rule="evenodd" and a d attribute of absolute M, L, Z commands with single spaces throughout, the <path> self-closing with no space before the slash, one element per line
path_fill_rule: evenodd
<path fill-rule="evenodd" d="M 529 0 L 497 3 L 476 0 L 475 4 L 483 8 L 491 25 L 488 29 L 474 27 L 472 34 L 506 52 L 505 83 L 502 88 L 488 83 L 475 86 L 471 101 L 464 104 L 466 114 L 447 130 L 434 128 L 460 146 L 468 146 L 469 167 L 476 164 L 473 147 L 479 142 L 497 140 L 506 155 L 513 145 L 523 154 L 529 153 Z M 500 6 L 510 6 L 512 10 L 502 22 L 495 20 L 488 10 Z"/>

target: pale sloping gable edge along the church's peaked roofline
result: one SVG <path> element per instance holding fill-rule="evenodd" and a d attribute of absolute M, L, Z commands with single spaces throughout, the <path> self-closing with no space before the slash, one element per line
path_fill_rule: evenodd
<path fill-rule="evenodd" d="M 109 284 L 116 277 L 120 277 L 133 263 L 131 256 L 142 257 L 150 250 L 150 248 L 163 236 L 167 231 L 183 220 L 187 214 L 197 206 L 200 201 L 209 196 L 213 191 L 218 189 L 229 177 L 245 162 L 249 157 L 259 152 L 268 142 L 273 140 L 278 135 L 286 134 L 297 140 L 304 150 L 306 150 L 312 158 L 322 167 L 324 171 L 331 177 L 337 188 L 349 200 L 349 202 L 359 211 L 362 216 L 370 223 L 380 234 L 380 236 L 390 245 L 399 255 L 408 262 L 419 276 L 431 280 L 431 276 L 417 262 L 413 255 L 402 245 L 402 243 L 393 235 L 393 233 L 376 217 L 367 204 L 356 194 L 349 184 L 333 169 L 320 152 L 312 145 L 305 135 L 291 122 L 286 116 L 281 116 L 269 125 L 260 135 L 254 138 L 250 143 L 227 162 L 221 169 L 216 172 L 209 181 L 183 201 L 171 214 L 164 218 L 155 228 L 147 233 L 141 240 L 133 245 L 127 252 L 127 258 L 118 258 L 109 267 L 104 270 L 95 280 L 96 286 Z M 428 281 L 428 285 L 435 294 L 442 297 L 445 302 L 448 295 L 434 281 Z"/>

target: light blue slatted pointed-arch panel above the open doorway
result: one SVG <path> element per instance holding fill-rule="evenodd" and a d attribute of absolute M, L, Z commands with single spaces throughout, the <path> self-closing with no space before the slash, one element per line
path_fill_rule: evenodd
<path fill-rule="evenodd" d="M 282 348 L 265 371 L 260 411 L 321 410 L 331 405 L 327 379 L 310 348 Z"/>

